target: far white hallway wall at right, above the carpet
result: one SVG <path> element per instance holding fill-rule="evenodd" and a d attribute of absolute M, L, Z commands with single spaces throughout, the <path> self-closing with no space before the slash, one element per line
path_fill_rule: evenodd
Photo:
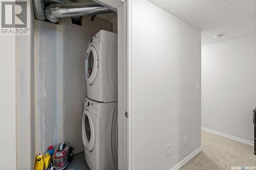
<path fill-rule="evenodd" d="M 256 35 L 202 46 L 202 127 L 253 142 Z"/>

